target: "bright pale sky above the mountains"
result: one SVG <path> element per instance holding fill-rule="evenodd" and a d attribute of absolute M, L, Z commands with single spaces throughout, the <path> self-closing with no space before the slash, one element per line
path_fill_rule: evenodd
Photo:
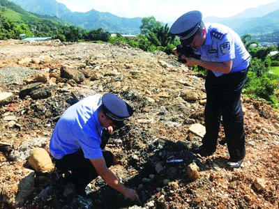
<path fill-rule="evenodd" d="M 72 12 L 91 9 L 119 17 L 150 17 L 160 22 L 174 22 L 190 10 L 199 10 L 203 17 L 231 17 L 247 8 L 255 8 L 276 0 L 56 0 Z"/>

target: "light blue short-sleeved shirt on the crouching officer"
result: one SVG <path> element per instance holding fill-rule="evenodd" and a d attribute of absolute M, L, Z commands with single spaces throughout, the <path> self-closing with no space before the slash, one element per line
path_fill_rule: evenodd
<path fill-rule="evenodd" d="M 96 94 L 66 109 L 50 139 L 50 153 L 55 159 L 59 160 L 81 149 L 85 158 L 103 157 L 100 149 L 103 126 L 98 121 L 100 104 L 102 95 Z"/>

